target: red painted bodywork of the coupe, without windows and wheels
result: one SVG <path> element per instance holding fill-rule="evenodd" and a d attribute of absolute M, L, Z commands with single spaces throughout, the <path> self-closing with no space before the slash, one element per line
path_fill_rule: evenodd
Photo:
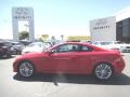
<path fill-rule="evenodd" d="M 64 52 L 52 53 L 49 52 L 57 48 L 64 44 L 77 44 L 90 46 L 93 48 L 91 52 Z M 36 72 L 46 73 L 86 73 L 92 74 L 92 71 L 99 63 L 109 63 L 114 68 L 115 73 L 121 73 L 125 68 L 125 61 L 117 51 L 103 50 L 87 43 L 63 43 L 51 47 L 48 52 L 30 53 L 22 55 L 16 58 L 13 64 L 13 70 L 17 72 L 21 61 L 29 60 L 35 65 Z"/>

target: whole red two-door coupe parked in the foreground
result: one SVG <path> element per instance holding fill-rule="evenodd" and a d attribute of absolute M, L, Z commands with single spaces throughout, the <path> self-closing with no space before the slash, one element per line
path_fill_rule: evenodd
<path fill-rule="evenodd" d="M 125 60 L 117 51 L 104 50 L 87 43 L 67 42 L 46 52 L 20 56 L 13 71 L 24 78 L 35 73 L 94 74 L 108 80 L 125 69 Z"/>

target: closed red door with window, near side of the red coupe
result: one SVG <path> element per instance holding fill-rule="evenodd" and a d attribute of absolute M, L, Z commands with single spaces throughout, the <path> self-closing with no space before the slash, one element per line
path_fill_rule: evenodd
<path fill-rule="evenodd" d="M 56 72 L 74 72 L 74 68 L 76 68 L 75 61 L 78 58 L 76 54 L 76 48 L 74 48 L 74 46 L 76 47 L 75 44 L 61 45 L 54 50 L 53 54 L 51 54 L 50 58 L 55 65 Z"/>

